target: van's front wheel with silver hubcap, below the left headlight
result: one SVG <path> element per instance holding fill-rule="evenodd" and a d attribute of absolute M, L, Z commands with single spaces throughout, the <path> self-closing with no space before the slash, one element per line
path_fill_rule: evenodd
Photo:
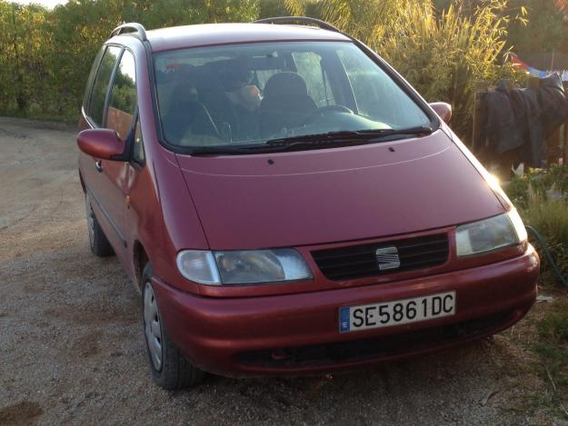
<path fill-rule="evenodd" d="M 148 263 L 142 274 L 142 321 L 152 379 L 167 390 L 196 386 L 204 381 L 205 372 L 188 362 L 172 342 L 160 316 L 152 285 L 153 276 L 154 271 Z"/>

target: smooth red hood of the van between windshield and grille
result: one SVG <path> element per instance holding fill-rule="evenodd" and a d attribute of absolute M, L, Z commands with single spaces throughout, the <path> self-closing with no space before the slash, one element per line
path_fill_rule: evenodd
<path fill-rule="evenodd" d="M 441 130 L 325 150 L 176 157 L 214 250 L 376 238 L 504 212 Z"/>

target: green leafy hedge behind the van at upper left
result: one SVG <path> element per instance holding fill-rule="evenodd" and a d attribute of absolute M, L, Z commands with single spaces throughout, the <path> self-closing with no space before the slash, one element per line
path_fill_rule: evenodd
<path fill-rule="evenodd" d="M 117 25 L 251 21 L 259 0 L 0 0 L 0 114 L 75 121 L 95 54 Z"/>

